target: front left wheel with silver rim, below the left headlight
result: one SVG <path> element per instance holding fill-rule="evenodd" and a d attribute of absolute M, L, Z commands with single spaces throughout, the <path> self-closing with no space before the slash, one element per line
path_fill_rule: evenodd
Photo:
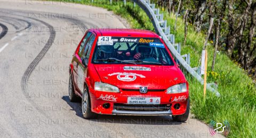
<path fill-rule="evenodd" d="M 84 88 L 83 92 L 82 114 L 85 119 L 93 119 L 96 117 L 96 114 L 91 110 L 91 99 L 87 88 Z"/>

